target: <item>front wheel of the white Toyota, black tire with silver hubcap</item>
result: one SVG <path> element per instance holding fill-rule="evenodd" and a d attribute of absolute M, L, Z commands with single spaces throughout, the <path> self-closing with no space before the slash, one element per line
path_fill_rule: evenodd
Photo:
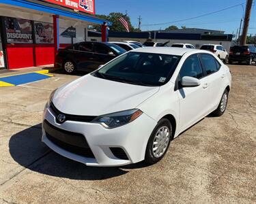
<path fill-rule="evenodd" d="M 173 128 L 171 122 L 166 118 L 159 120 L 158 124 L 150 135 L 150 139 L 147 141 L 147 148 L 145 151 L 146 163 L 153 165 L 158 163 L 158 161 L 160 161 L 165 156 L 169 148 L 172 135 Z M 158 142 L 158 144 L 154 144 L 156 142 Z M 156 150 L 153 150 L 153 148 Z"/>

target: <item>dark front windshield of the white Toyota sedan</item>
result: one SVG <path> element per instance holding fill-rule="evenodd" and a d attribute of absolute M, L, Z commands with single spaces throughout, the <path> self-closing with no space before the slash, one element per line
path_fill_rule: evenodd
<path fill-rule="evenodd" d="M 128 84 L 162 86 L 173 75 L 180 58 L 169 54 L 128 52 L 91 74 Z"/>

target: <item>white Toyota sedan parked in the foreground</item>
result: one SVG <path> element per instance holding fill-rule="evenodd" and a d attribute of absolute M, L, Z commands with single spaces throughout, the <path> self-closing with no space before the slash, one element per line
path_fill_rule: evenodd
<path fill-rule="evenodd" d="M 229 67 L 204 50 L 140 48 L 53 91 L 42 141 L 88 166 L 157 163 L 171 140 L 221 116 Z"/>

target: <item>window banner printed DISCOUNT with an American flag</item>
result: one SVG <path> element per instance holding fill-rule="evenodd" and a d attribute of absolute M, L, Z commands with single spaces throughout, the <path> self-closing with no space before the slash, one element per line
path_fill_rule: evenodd
<path fill-rule="evenodd" d="M 31 20 L 5 17 L 5 29 L 8 43 L 33 43 Z"/>

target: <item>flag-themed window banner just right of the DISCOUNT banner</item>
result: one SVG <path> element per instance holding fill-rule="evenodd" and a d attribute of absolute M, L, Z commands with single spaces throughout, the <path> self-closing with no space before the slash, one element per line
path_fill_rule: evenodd
<path fill-rule="evenodd" d="M 53 24 L 35 21 L 35 43 L 53 44 Z"/>

